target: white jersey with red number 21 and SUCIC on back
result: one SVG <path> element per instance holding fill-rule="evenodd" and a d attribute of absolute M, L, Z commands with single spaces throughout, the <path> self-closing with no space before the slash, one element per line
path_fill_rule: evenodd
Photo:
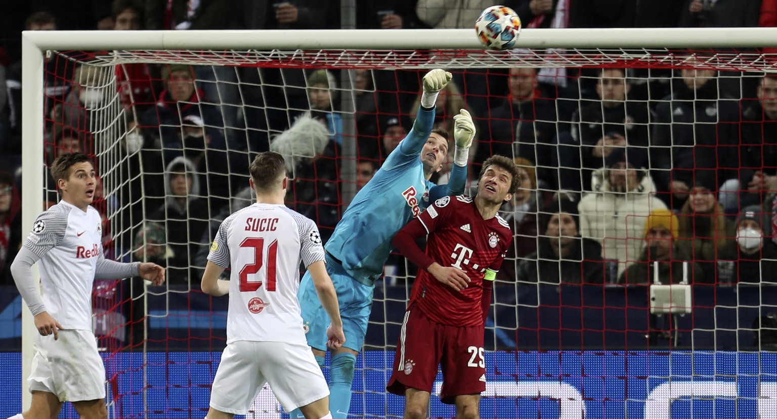
<path fill-rule="evenodd" d="M 315 222 L 282 204 L 253 204 L 221 223 L 207 260 L 232 269 L 228 344 L 305 342 L 299 266 L 324 260 Z"/>

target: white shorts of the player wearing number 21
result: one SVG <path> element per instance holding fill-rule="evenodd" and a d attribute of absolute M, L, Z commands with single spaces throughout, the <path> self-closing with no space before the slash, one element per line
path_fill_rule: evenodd
<path fill-rule="evenodd" d="M 246 414 L 265 382 L 287 412 L 329 396 L 329 386 L 308 344 L 238 340 L 221 354 L 211 407 Z"/>

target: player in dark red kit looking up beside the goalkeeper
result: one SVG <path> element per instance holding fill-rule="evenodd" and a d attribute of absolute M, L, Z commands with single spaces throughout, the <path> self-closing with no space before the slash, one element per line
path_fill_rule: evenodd
<path fill-rule="evenodd" d="M 386 386 L 405 396 L 406 419 L 426 417 L 437 365 L 442 402 L 455 403 L 458 418 L 479 417 L 486 316 L 513 239 L 497 211 L 520 180 L 512 159 L 494 155 L 483 162 L 474 199 L 442 197 L 394 237 L 394 246 L 419 267 Z M 416 239 L 427 235 L 424 253 Z"/>

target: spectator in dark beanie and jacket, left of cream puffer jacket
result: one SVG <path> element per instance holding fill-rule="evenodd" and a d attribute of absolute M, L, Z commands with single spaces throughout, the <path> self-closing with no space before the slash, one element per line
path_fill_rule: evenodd
<path fill-rule="evenodd" d="M 601 245 L 578 233 L 577 204 L 553 201 L 540 218 L 538 248 L 518 265 L 517 279 L 549 284 L 602 284 Z"/>

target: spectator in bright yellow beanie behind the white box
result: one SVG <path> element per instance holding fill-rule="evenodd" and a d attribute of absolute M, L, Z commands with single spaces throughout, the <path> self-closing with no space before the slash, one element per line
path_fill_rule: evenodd
<path fill-rule="evenodd" d="M 668 209 L 650 212 L 645 222 L 644 248 L 639 260 L 618 278 L 619 284 L 652 284 L 653 263 L 658 262 L 661 284 L 678 284 L 683 280 L 683 263 L 688 262 L 688 283 L 701 280 L 702 267 L 691 261 L 687 248 L 678 242 L 679 222 Z M 670 281 L 671 280 L 671 281 Z"/>

